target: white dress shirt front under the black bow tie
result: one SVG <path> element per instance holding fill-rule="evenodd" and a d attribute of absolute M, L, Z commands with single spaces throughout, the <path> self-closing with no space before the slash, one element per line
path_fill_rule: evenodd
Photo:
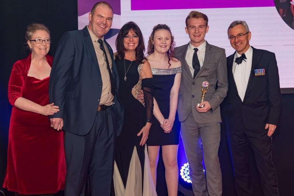
<path fill-rule="evenodd" d="M 252 66 L 252 54 L 253 54 L 253 49 L 250 46 L 248 50 L 245 52 L 245 56 L 247 59 L 246 61 L 242 61 L 239 65 L 235 62 L 235 59 L 237 57 L 240 57 L 241 55 L 236 51 L 235 56 L 234 56 L 234 61 L 233 61 L 233 76 L 235 79 L 235 83 L 237 86 L 238 94 L 243 102 L 250 72 L 251 72 L 251 66 Z"/>

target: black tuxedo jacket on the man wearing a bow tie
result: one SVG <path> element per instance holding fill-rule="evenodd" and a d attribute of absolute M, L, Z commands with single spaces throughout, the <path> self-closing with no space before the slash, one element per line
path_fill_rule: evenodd
<path fill-rule="evenodd" d="M 253 47 L 252 47 L 253 48 Z M 252 66 L 242 102 L 233 77 L 234 54 L 227 57 L 229 90 L 225 100 L 225 122 L 230 130 L 243 126 L 248 130 L 263 130 L 265 124 L 280 121 L 280 82 L 275 54 L 253 48 Z M 264 76 L 255 76 L 255 69 L 265 69 Z"/>

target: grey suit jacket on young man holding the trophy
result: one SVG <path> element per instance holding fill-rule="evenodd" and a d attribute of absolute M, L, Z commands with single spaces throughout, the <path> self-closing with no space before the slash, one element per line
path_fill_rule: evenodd
<path fill-rule="evenodd" d="M 180 122 L 185 121 L 192 111 L 193 118 L 197 123 L 221 122 L 219 105 L 228 92 L 225 49 L 207 43 L 203 66 L 195 78 L 193 78 L 186 62 L 187 49 L 188 44 L 176 47 L 174 54 L 181 61 L 183 67 L 178 95 L 179 120 Z M 196 106 L 197 103 L 201 103 L 201 86 L 204 81 L 209 83 L 204 101 L 208 101 L 211 110 L 200 113 L 196 110 Z"/>

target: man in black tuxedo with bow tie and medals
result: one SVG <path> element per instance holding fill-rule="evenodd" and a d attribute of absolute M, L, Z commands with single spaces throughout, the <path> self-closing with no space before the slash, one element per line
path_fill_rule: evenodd
<path fill-rule="evenodd" d="M 227 57 L 229 90 L 225 123 L 238 195 L 252 195 L 248 145 L 254 151 L 264 194 L 279 195 L 272 162 L 272 134 L 280 121 L 280 83 L 275 54 L 249 45 L 245 21 L 234 21 L 228 38 L 236 50 Z"/>

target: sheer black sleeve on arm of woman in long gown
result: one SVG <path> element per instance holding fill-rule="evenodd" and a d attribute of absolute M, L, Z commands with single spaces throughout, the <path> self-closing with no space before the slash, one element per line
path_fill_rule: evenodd
<path fill-rule="evenodd" d="M 142 90 L 145 100 L 146 120 L 145 122 L 152 123 L 153 115 L 153 78 L 142 79 Z"/>

